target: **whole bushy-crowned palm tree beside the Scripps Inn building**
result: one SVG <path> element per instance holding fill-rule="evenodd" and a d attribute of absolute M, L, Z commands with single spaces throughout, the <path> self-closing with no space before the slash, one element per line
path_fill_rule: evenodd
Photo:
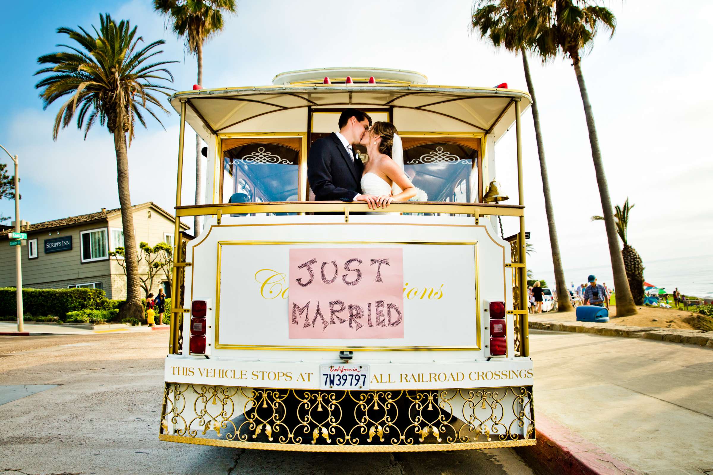
<path fill-rule="evenodd" d="M 46 109 L 60 98 L 68 98 L 54 120 L 52 138 L 57 140 L 60 127 L 70 125 L 77 113 L 77 127 L 83 130 L 84 138 L 98 122 L 106 125 L 114 136 L 116 152 L 116 175 L 121 205 L 121 221 L 124 231 L 126 253 L 126 304 L 120 312 L 123 317 L 143 318 L 143 307 L 139 288 L 138 265 L 136 263 L 136 240 L 133 231 L 133 214 L 129 196 L 128 145 L 134 136 L 135 120 L 146 126 L 145 114 L 155 120 L 150 105 L 168 113 L 152 93 L 168 95 L 170 88 L 157 84 L 157 80 L 173 81 L 173 75 L 165 68 L 175 61 L 155 61 L 156 51 L 165 41 L 154 41 L 139 47 L 143 42 L 136 36 L 136 27 L 130 28 L 128 21 L 116 24 L 111 16 L 99 15 L 100 27 L 93 33 L 79 27 L 58 28 L 58 33 L 66 34 L 78 43 L 63 46 L 68 51 L 58 51 L 37 58 L 40 64 L 51 65 L 37 71 L 35 75 L 48 74 L 35 88 L 41 89 L 40 98 Z"/>

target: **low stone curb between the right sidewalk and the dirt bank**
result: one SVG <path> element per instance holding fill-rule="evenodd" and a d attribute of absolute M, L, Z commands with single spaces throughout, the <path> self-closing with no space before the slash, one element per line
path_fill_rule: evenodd
<path fill-rule="evenodd" d="M 602 336 L 619 336 L 625 338 L 646 338 L 647 340 L 667 341 L 670 343 L 683 343 L 699 345 L 704 348 L 713 348 L 713 332 L 704 332 L 702 330 L 635 327 L 630 325 L 616 325 L 615 323 L 563 322 L 562 320 L 530 320 L 528 321 L 528 327 L 533 330 L 595 333 Z"/>

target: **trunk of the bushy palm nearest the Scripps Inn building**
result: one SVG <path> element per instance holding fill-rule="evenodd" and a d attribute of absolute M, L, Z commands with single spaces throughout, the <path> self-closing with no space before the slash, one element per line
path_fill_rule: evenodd
<path fill-rule="evenodd" d="M 120 309 L 120 313 L 122 318 L 143 318 L 138 263 L 136 261 L 136 238 L 133 229 L 133 209 L 131 209 L 131 197 L 129 194 L 129 164 L 126 154 L 126 134 L 122 129 L 122 125 L 118 125 L 116 130 L 114 130 L 116 182 L 119 189 L 121 225 L 124 231 L 124 263 L 126 266 L 126 303 Z"/>

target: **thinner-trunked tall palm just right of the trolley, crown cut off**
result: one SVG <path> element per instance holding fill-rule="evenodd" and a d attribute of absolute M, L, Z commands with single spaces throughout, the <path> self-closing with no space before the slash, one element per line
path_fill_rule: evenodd
<path fill-rule="evenodd" d="M 551 23 L 551 9 L 538 0 L 480 0 L 473 6 L 471 28 L 481 33 L 481 38 L 488 37 L 495 46 L 504 46 L 508 51 L 520 53 L 523 57 L 525 82 L 532 98 L 533 121 L 535 122 L 535 138 L 538 156 L 540 157 L 540 176 L 542 177 L 543 194 L 545 195 L 545 214 L 550 232 L 550 248 L 552 263 L 555 268 L 555 285 L 557 286 L 558 310 L 560 312 L 573 310 L 569 299 L 565 272 L 562 268 L 560 242 L 555 225 L 555 212 L 550 194 L 550 180 L 545 162 L 545 145 L 540 129 L 540 113 L 535 100 L 535 87 L 530 75 L 530 66 L 526 50 L 533 47 L 535 38 L 541 28 L 548 28 Z"/>

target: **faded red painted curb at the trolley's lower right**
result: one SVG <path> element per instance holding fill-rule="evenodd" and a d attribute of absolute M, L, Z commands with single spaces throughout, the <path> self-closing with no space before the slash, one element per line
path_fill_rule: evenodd
<path fill-rule="evenodd" d="M 640 471 L 588 442 L 552 419 L 538 414 L 537 445 L 515 449 L 523 459 L 553 475 L 642 475 Z"/>

